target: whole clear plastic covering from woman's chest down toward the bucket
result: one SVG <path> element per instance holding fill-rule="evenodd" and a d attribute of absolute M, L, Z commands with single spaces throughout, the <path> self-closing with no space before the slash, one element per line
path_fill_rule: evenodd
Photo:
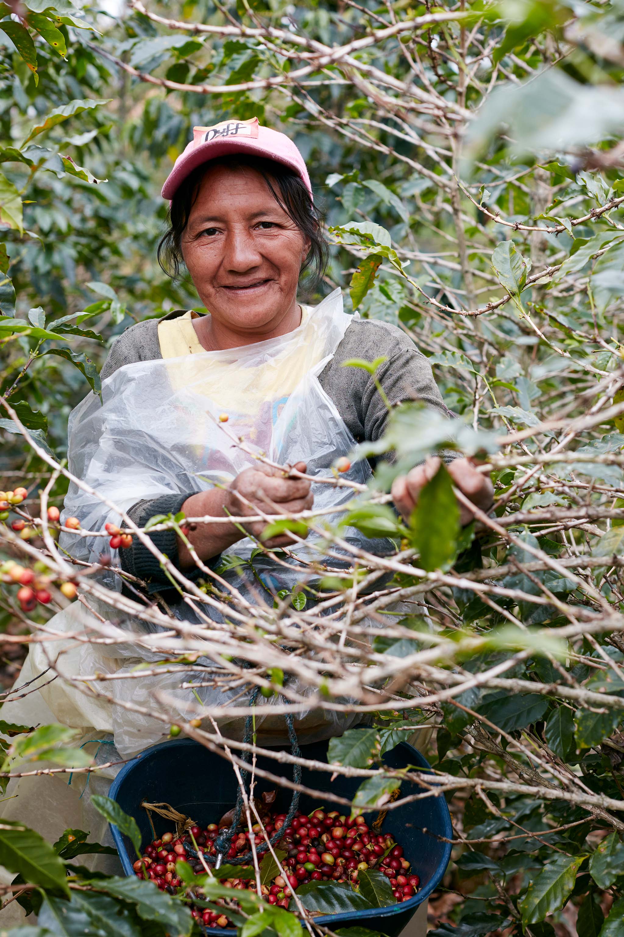
<path fill-rule="evenodd" d="M 349 453 L 355 440 L 334 403 L 323 391 L 318 375 L 337 349 L 352 317 L 342 312 L 340 290 L 331 293 L 305 317 L 299 328 L 288 335 L 270 339 L 243 349 L 210 351 L 181 358 L 127 364 L 103 384 L 102 402 L 90 394 L 74 410 L 70 419 L 69 467 L 95 491 L 109 498 L 123 510 L 138 500 L 158 495 L 208 490 L 213 483 L 227 484 L 244 468 L 257 465 L 253 455 L 243 452 L 233 441 L 243 437 L 254 451 L 264 452 L 278 464 L 307 463 L 312 476 L 331 478 L 331 466 Z M 345 380 L 349 379 L 348 369 Z M 228 421 L 219 424 L 221 413 Z M 228 432 L 229 431 L 229 432 Z M 370 466 L 363 460 L 342 477 L 363 483 L 370 478 Z M 354 497 L 353 489 L 313 483 L 314 507 L 331 508 Z M 67 514 L 80 518 L 82 528 L 102 530 L 107 521 L 117 523 L 119 515 L 102 502 L 71 484 L 65 499 Z M 334 520 L 339 515 L 333 515 Z M 331 519 L 322 517 L 320 523 Z M 341 531 L 348 542 L 376 553 L 388 552 L 387 541 L 370 541 L 354 528 Z M 313 549 L 314 535 L 294 548 L 305 563 L 322 559 Z M 74 538 L 65 535 L 63 545 L 76 557 L 96 561 L 107 541 L 102 538 Z M 245 539 L 235 543 L 229 553 L 250 558 L 255 544 Z M 118 565 L 113 554 L 112 563 Z M 272 593 L 282 588 L 292 590 L 306 581 L 297 569 L 278 565 L 270 558 L 254 558 L 255 576 L 249 568 L 235 568 L 224 578 L 251 602 L 272 604 Z M 330 561 L 331 565 L 331 561 Z M 110 574 L 108 574 L 110 575 Z M 266 587 L 258 595 L 258 579 Z M 107 585 L 113 586 L 113 579 Z M 262 591 L 262 590 L 261 590 Z M 90 600 L 92 602 L 92 600 Z M 187 620 L 194 612 L 186 603 L 171 606 L 173 614 Z M 114 609 L 97 604 L 105 617 L 118 617 Z M 203 611 L 215 620 L 220 613 L 204 606 Z M 134 620 L 125 627 L 154 630 L 154 626 Z M 156 655 L 136 645 L 107 650 L 107 662 L 95 661 L 96 646 L 85 647 L 80 670 L 95 669 L 130 672 L 138 662 L 156 660 Z M 190 675 L 189 675 L 190 676 Z M 153 692 L 166 691 L 179 700 L 178 711 L 191 718 L 196 698 L 179 689 L 175 675 L 148 677 L 144 680 L 114 680 L 107 685 L 117 699 L 143 701 L 150 706 Z M 233 691 L 236 695 L 238 691 Z M 203 688 L 202 700 L 226 706 L 228 692 Z M 355 717 L 345 714 L 310 712 L 297 718 L 299 730 L 312 741 L 340 734 Z M 219 722 L 228 734 L 237 735 L 241 721 L 230 723 L 226 711 Z M 281 741 L 283 716 L 266 717 L 263 736 Z M 144 720 L 137 714 L 113 706 L 115 742 L 120 751 L 138 751 L 156 741 L 162 724 Z M 152 725 L 150 725 L 152 723 Z"/>

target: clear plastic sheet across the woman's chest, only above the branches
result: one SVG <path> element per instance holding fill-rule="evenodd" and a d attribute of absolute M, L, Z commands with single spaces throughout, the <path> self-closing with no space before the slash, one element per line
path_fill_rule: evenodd
<path fill-rule="evenodd" d="M 257 465 L 233 437 L 281 465 L 302 460 L 311 475 L 331 477 L 332 463 L 355 440 L 317 375 L 351 321 L 335 290 L 299 328 L 280 338 L 243 349 L 126 364 L 104 382 L 102 403 L 89 394 L 71 414 L 69 468 L 123 510 L 159 495 L 227 485 L 244 468 Z M 308 370 L 302 373 L 305 364 Z M 220 424 L 224 412 L 228 421 Z M 366 482 L 370 466 L 362 460 L 343 477 Z M 312 490 L 315 508 L 353 498 L 348 488 L 316 483 Z M 99 498 L 73 483 L 65 511 L 79 517 L 84 529 L 101 530 L 107 521 L 119 520 Z M 346 539 L 353 538 L 363 543 L 350 528 Z M 311 543 L 295 552 L 312 556 Z M 71 535 L 63 542 L 74 556 L 91 561 L 105 544 L 102 538 Z M 247 539 L 230 552 L 245 557 L 253 548 Z"/>

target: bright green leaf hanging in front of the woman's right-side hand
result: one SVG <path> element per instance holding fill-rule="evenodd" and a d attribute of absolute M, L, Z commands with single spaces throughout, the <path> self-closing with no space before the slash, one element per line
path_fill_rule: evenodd
<path fill-rule="evenodd" d="M 451 562 L 459 536 L 459 506 L 443 463 L 420 492 L 410 528 L 423 569 L 432 573 Z"/>

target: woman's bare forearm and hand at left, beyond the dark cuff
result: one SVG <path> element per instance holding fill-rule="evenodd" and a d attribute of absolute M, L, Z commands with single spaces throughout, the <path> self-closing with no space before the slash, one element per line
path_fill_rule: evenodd
<path fill-rule="evenodd" d="M 305 472 L 305 462 L 297 462 L 293 467 L 297 471 Z M 249 521 L 245 517 L 258 514 L 291 514 L 300 511 L 309 511 L 312 508 L 314 496 L 311 484 L 302 478 L 284 477 L 280 468 L 270 468 L 261 463 L 254 468 L 245 468 L 229 483 L 227 488 L 212 488 L 210 491 L 201 491 L 186 498 L 182 504 L 182 511 L 187 517 L 226 517 L 231 516 L 239 522 L 234 524 L 196 524 L 187 538 L 196 549 L 197 555 L 204 562 L 216 557 L 233 543 L 242 540 L 244 534 L 240 532 L 242 526 L 252 536 L 261 538 L 267 522 Z M 307 536 L 307 535 L 306 535 Z M 279 546 L 291 546 L 294 539 L 287 532 L 279 537 L 271 537 L 264 545 L 270 549 Z M 195 565 L 186 544 L 178 538 L 178 558 L 180 568 L 188 569 Z"/>

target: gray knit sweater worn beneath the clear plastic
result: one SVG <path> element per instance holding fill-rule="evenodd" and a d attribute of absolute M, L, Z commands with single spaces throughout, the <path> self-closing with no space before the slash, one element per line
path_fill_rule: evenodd
<path fill-rule="evenodd" d="M 169 313 L 166 319 L 183 315 L 183 310 Z M 102 368 L 102 379 L 107 379 L 124 364 L 138 361 L 153 361 L 162 358 L 158 342 L 158 322 L 150 319 L 131 326 L 114 342 L 109 357 Z M 374 381 L 363 368 L 342 367 L 350 358 L 373 361 L 387 359 L 377 370 L 385 394 L 391 404 L 404 400 L 421 400 L 429 407 L 449 416 L 442 394 L 438 390 L 431 365 L 427 358 L 395 325 L 377 320 L 354 319 L 347 328 L 334 357 L 319 375 L 323 390 L 329 396 L 342 420 L 357 442 L 375 440 L 384 435 L 388 411 Z M 144 527 L 153 514 L 177 513 L 186 498 L 194 492 L 179 495 L 163 495 L 159 498 L 138 501 L 129 510 L 138 527 Z M 152 541 L 174 563 L 178 562 L 178 547 L 175 532 L 156 532 Z M 219 561 L 212 559 L 210 565 Z M 170 585 L 160 566 L 149 550 L 134 540 L 131 548 L 121 552 L 122 567 L 127 573 L 138 576 L 149 584 L 149 592 L 167 589 Z M 199 574 L 197 571 L 196 574 Z M 186 575 L 190 573 L 187 571 Z M 192 576 L 191 576 L 192 577 Z"/>

